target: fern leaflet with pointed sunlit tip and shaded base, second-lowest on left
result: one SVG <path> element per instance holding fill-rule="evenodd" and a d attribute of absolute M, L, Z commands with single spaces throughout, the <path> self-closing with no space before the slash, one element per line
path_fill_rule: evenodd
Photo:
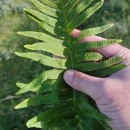
<path fill-rule="evenodd" d="M 43 86 L 44 87 L 44 86 Z M 65 100 L 72 99 L 72 92 L 66 91 L 66 92 L 60 92 L 60 93 L 49 93 L 44 95 L 36 95 L 34 97 L 31 97 L 29 99 L 24 100 L 22 103 L 17 105 L 15 109 L 25 108 L 29 106 L 36 106 L 36 105 L 54 105 L 56 103 L 64 102 Z"/>

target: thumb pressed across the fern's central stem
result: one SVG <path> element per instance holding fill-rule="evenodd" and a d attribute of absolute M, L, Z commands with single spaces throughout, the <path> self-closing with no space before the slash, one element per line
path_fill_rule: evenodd
<path fill-rule="evenodd" d="M 102 98 L 103 96 L 105 80 L 103 78 L 92 77 L 75 70 L 68 70 L 64 73 L 64 80 L 71 87 L 86 93 L 94 100 Z"/>

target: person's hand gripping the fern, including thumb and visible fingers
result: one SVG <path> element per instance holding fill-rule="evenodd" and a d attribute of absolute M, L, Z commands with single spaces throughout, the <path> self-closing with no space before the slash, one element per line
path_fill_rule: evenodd
<path fill-rule="evenodd" d="M 72 34 L 78 37 L 80 31 L 75 29 Z M 80 43 L 101 40 L 104 38 L 90 36 Z M 95 100 L 99 110 L 112 119 L 108 122 L 112 130 L 130 130 L 130 50 L 115 44 L 95 51 L 107 58 L 122 56 L 127 67 L 108 78 L 97 78 L 76 70 L 67 70 L 64 80 L 74 89 Z"/>

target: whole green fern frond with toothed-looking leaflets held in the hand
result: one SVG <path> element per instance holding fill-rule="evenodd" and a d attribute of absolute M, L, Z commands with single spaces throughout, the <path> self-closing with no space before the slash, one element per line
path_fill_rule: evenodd
<path fill-rule="evenodd" d="M 106 59 L 92 51 L 121 40 L 109 39 L 98 42 L 77 44 L 86 36 L 96 35 L 111 28 L 113 24 L 84 29 L 78 38 L 72 31 L 84 23 L 103 4 L 103 0 L 31 0 L 40 10 L 25 9 L 27 15 L 43 28 L 43 32 L 18 32 L 40 42 L 25 45 L 32 50 L 27 53 L 16 52 L 16 55 L 40 62 L 51 67 L 42 72 L 28 84 L 17 83 L 22 94 L 32 92 L 33 97 L 24 100 L 15 108 L 42 105 L 41 113 L 27 122 L 27 127 L 54 130 L 110 130 L 109 120 L 100 113 L 95 103 L 85 94 L 73 90 L 63 80 L 67 69 L 75 69 L 93 76 L 106 77 L 125 66 L 119 64 L 121 57 Z M 39 51 L 40 50 L 40 51 Z M 46 55 L 41 51 L 52 54 Z M 62 58 L 53 58 L 53 55 Z M 36 94 L 34 94 L 36 93 Z M 42 108 L 43 108 L 42 107 Z"/>

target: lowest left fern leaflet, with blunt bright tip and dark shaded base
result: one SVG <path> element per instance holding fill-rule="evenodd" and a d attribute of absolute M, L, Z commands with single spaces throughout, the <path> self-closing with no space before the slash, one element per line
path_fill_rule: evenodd
<path fill-rule="evenodd" d="M 73 108 L 72 102 L 69 102 L 69 103 L 67 103 L 65 105 L 64 104 L 63 105 L 57 105 L 56 107 L 51 108 L 51 109 L 39 114 L 38 116 L 32 118 L 31 120 L 29 120 L 27 122 L 27 126 L 30 128 L 33 125 L 35 125 L 36 123 L 42 122 L 42 124 L 43 124 L 43 126 L 45 128 L 45 127 L 47 127 L 46 123 L 51 122 L 52 120 L 55 120 L 55 119 L 56 119 L 57 122 L 59 122 L 57 117 L 60 116 L 61 118 L 63 118 L 64 116 L 61 116 L 61 115 L 62 114 L 66 115 L 69 112 L 70 112 L 69 114 L 70 115 L 72 114 L 72 116 L 74 118 L 75 114 L 73 114 L 73 109 L 72 108 Z M 64 120 L 67 121 L 66 118 L 64 118 Z M 50 125 L 51 125 L 51 123 L 50 123 Z M 60 126 L 65 125 L 65 122 L 60 121 L 60 123 L 58 123 L 58 126 L 59 125 Z"/>

